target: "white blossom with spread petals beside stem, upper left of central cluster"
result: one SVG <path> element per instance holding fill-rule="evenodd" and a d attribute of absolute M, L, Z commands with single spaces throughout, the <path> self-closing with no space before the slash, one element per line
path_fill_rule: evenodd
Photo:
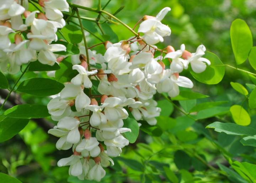
<path fill-rule="evenodd" d="M 81 86 L 82 84 L 84 84 L 85 88 L 91 88 L 92 82 L 88 76 L 97 73 L 97 70 L 93 70 L 93 71 L 89 72 L 81 65 L 73 65 L 72 68 L 73 68 L 73 70 L 77 70 L 79 72 L 79 74 L 76 75 L 73 79 L 71 79 L 71 82 L 74 85 Z"/>

